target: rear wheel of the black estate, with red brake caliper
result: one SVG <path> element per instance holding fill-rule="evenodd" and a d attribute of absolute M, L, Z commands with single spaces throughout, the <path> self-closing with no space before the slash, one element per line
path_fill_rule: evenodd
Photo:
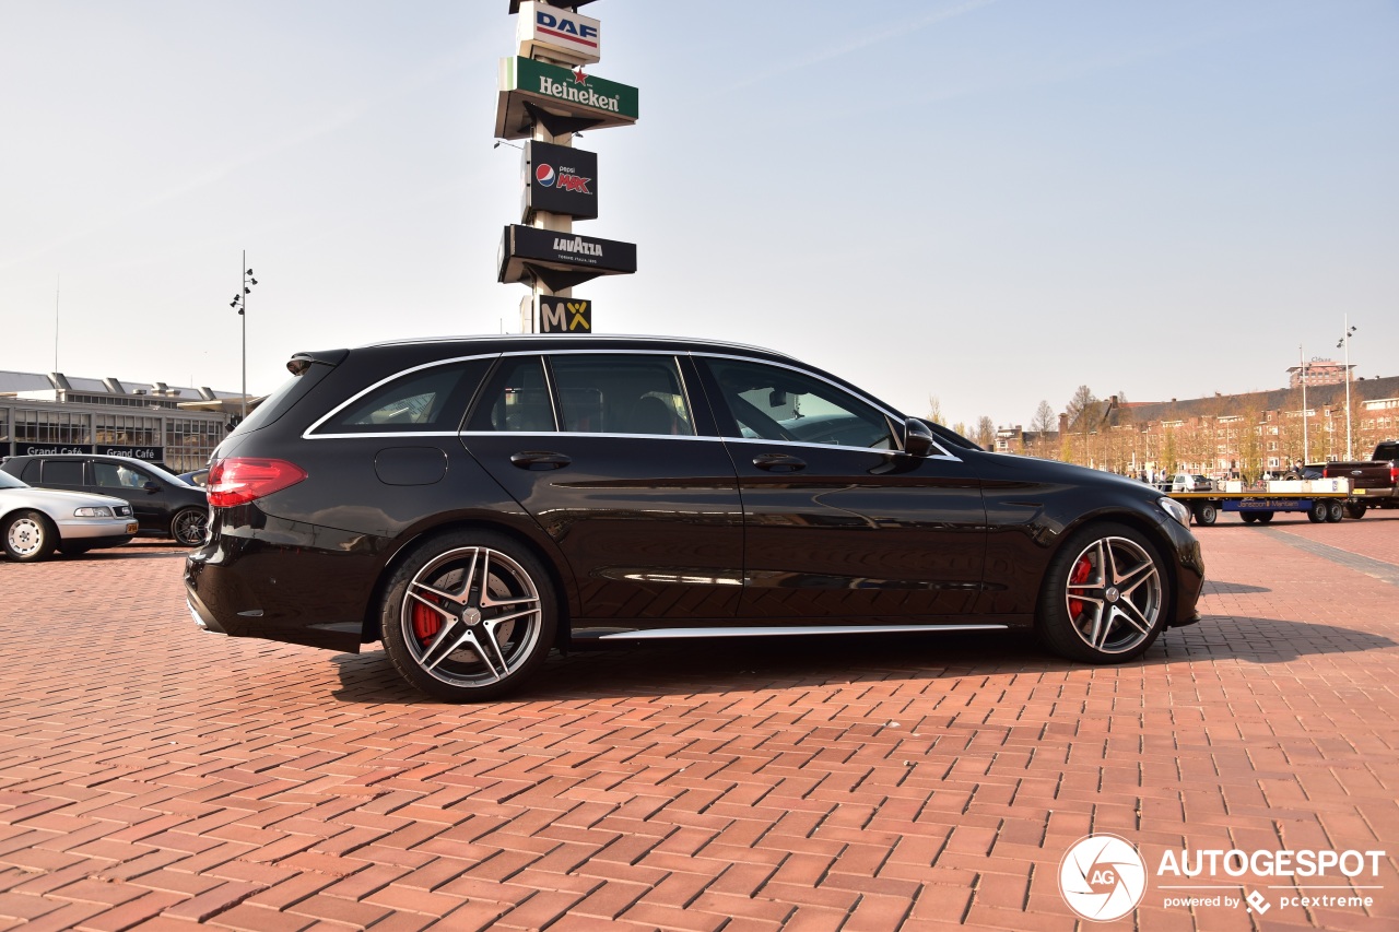
<path fill-rule="evenodd" d="M 420 544 L 393 572 L 379 609 L 399 673 L 449 702 L 519 689 L 554 647 L 558 596 L 544 564 L 492 532 Z"/>

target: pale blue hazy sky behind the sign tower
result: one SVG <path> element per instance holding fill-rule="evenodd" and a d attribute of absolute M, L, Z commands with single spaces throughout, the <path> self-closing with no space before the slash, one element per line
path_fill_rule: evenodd
<path fill-rule="evenodd" d="M 769 346 L 950 423 L 1399 375 L 1393 0 L 600 0 L 610 333 Z M 0 369 L 249 389 L 518 329 L 506 0 L 0 0 Z M 57 292 L 57 298 L 56 298 Z"/>

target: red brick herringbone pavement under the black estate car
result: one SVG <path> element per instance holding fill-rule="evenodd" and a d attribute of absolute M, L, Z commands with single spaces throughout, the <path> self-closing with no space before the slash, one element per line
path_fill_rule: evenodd
<path fill-rule="evenodd" d="M 199 633 L 161 546 L 0 564 L 0 929 L 1069 929 L 1090 831 L 1149 870 L 1388 851 L 1368 910 L 1168 908 L 1153 879 L 1122 928 L 1399 928 L 1395 585 L 1291 546 L 1399 567 L 1399 514 L 1200 539 L 1205 623 L 1123 668 L 669 645 L 469 707 L 378 651 Z"/>

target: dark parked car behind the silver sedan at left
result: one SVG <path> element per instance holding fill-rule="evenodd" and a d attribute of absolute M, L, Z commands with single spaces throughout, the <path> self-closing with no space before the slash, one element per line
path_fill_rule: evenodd
<path fill-rule="evenodd" d="M 145 460 L 106 453 L 45 453 L 11 456 L 0 469 L 35 488 L 123 498 L 144 536 L 173 537 L 186 547 L 204 540 L 208 523 L 204 490 Z"/>

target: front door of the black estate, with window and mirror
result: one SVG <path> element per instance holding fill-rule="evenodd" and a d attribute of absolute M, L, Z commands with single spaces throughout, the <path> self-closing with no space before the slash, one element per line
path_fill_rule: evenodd
<path fill-rule="evenodd" d="M 876 621 L 974 610 L 986 511 L 940 446 L 898 453 L 888 413 L 824 376 L 695 357 L 744 509 L 743 617 Z"/>

